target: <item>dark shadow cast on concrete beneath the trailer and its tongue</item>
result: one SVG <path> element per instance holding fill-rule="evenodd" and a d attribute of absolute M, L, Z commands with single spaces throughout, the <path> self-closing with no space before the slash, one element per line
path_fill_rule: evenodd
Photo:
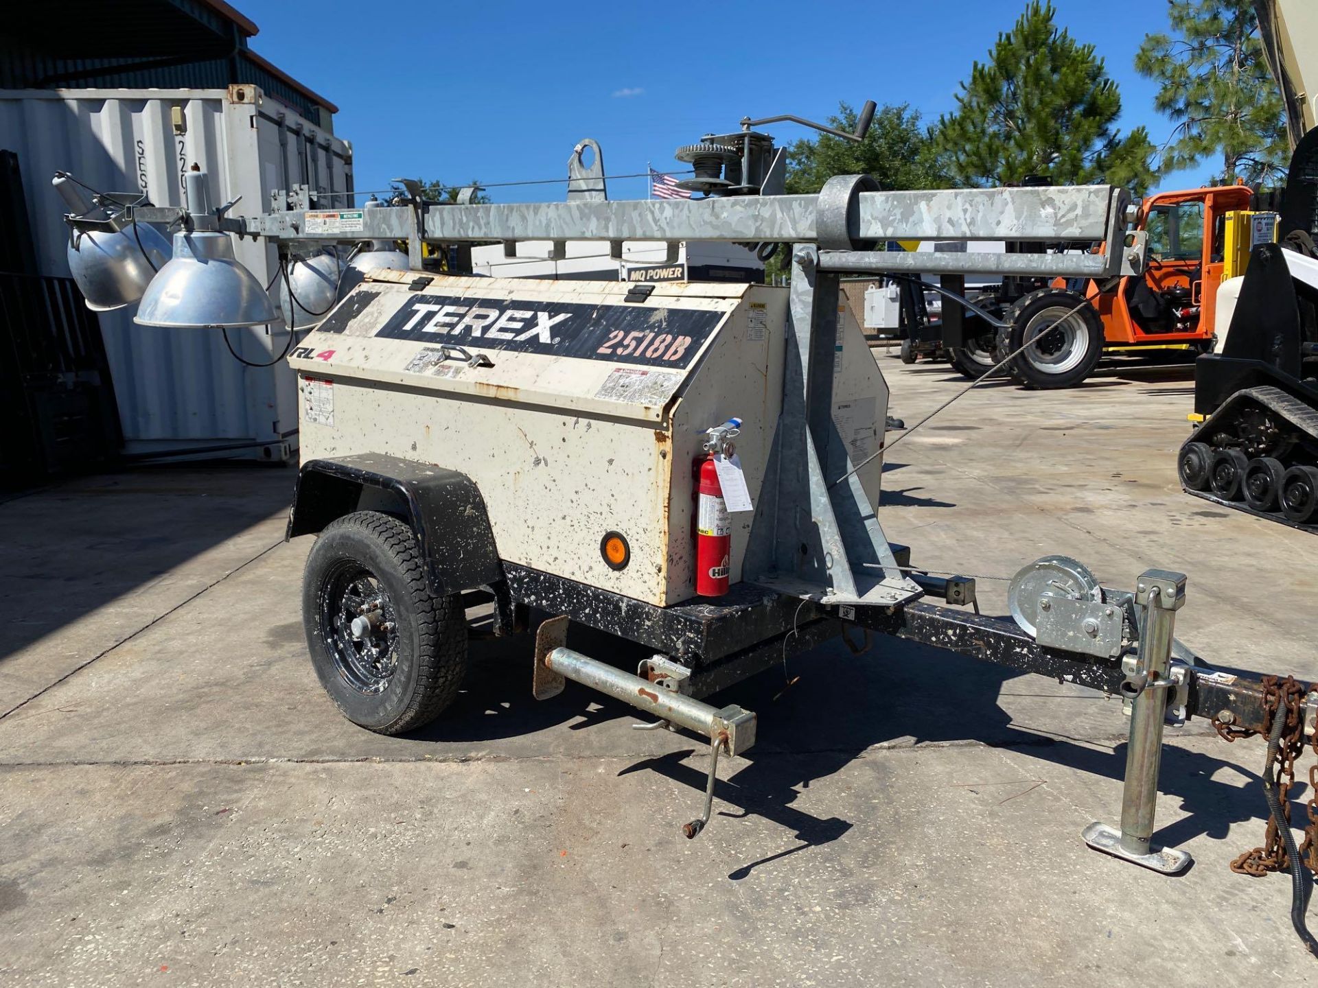
<path fill-rule="evenodd" d="M 738 865 L 729 879 L 745 879 L 758 868 L 829 844 L 863 826 L 865 821 L 812 814 L 799 802 L 807 790 L 857 759 L 883 759 L 882 750 L 985 744 L 1010 748 L 1044 767 L 1054 765 L 1060 773 L 1053 779 L 1075 772 L 1123 779 L 1127 721 L 1115 701 L 1106 703 L 1098 693 L 925 645 L 882 636 L 876 642 L 878 647 L 859 657 L 841 643 L 829 643 L 795 656 L 787 669 L 770 669 L 708 698 L 717 706 L 739 703 L 759 715 L 755 747 L 720 763 L 724 777 L 714 789 L 712 825 L 717 827 L 720 817 L 760 817 L 791 834 L 787 846 Z M 651 651 L 584 627 L 573 627 L 571 644 L 619 668 L 635 668 Z M 609 730 L 630 735 L 626 723 L 645 719 L 631 706 L 575 684 L 554 700 L 531 700 L 530 649 L 530 636 L 480 643 L 473 648 L 474 663 L 463 698 L 448 717 L 414 738 L 438 743 L 488 740 L 563 725 L 571 731 L 593 731 L 616 721 L 623 723 Z M 523 663 L 525 677 L 513 669 Z M 1012 692 L 1011 684 L 1027 689 Z M 1104 703 L 1110 713 L 1094 710 L 1091 703 Z M 1021 706 L 1028 713 L 1017 715 L 1027 715 L 1029 727 L 1017 723 L 1008 710 L 1020 711 Z M 1191 736 L 1203 736 L 1198 728 L 1189 730 L 1194 731 Z M 1185 815 L 1155 834 L 1155 843 L 1174 847 L 1198 837 L 1220 840 L 1234 823 L 1264 818 L 1261 794 L 1251 798 L 1259 792 L 1255 771 L 1177 746 L 1176 731 L 1169 731 L 1168 739 L 1172 743 L 1164 750 L 1160 788 L 1181 801 Z M 680 747 L 639 757 L 618 775 L 648 771 L 685 786 L 695 815 L 705 788 L 708 748 L 687 734 L 672 740 Z M 1257 756 L 1261 761 L 1261 747 Z M 1037 777 L 1044 785 L 1049 781 L 1045 768 Z M 1292 798 L 1292 819 L 1304 819 L 1307 792 L 1302 780 L 1297 780 Z M 1107 822 L 1119 818 L 1115 789 L 1111 805 L 1099 808 L 1095 815 Z"/>

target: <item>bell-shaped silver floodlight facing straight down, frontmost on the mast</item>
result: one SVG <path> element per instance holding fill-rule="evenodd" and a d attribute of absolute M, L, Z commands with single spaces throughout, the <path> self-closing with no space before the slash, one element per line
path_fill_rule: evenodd
<path fill-rule="evenodd" d="M 134 323 L 171 329 L 237 328 L 279 319 L 261 282 L 233 257 L 233 241 L 215 227 L 229 203 L 211 212 L 206 174 L 185 175 L 188 229 L 174 234 L 174 257 L 146 286 Z M 237 200 L 235 200 L 237 202 Z"/>

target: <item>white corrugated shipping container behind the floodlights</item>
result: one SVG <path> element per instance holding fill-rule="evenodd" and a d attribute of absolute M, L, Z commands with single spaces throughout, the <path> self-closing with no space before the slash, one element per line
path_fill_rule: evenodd
<path fill-rule="evenodd" d="M 145 192 L 185 206 L 183 173 L 207 173 L 211 200 L 241 196 L 233 215 L 272 208 L 272 192 L 307 184 L 322 208 L 352 204 L 352 146 L 253 86 L 228 90 L 0 90 L 0 149 L 18 154 L 37 273 L 69 275 L 55 171 L 103 192 Z M 162 231 L 163 232 L 163 231 Z M 262 283 L 278 270 L 274 246 L 235 242 Z M 295 378 L 285 361 L 249 368 L 219 329 L 133 323 L 136 308 L 101 312 L 124 452 L 136 457 L 286 460 L 298 447 Z M 275 360 L 282 327 L 229 329 L 253 362 Z"/>

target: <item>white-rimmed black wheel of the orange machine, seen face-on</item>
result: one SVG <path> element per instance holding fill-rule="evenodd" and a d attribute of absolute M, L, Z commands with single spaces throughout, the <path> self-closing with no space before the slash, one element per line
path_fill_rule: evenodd
<path fill-rule="evenodd" d="M 1058 323 L 1061 316 L 1066 317 Z M 1103 357 L 1103 323 L 1094 307 L 1073 291 L 1032 291 L 1011 307 L 1007 323 L 1007 353 L 1019 350 L 1027 339 L 1040 340 L 1007 365 L 1025 387 L 1074 387 Z"/>

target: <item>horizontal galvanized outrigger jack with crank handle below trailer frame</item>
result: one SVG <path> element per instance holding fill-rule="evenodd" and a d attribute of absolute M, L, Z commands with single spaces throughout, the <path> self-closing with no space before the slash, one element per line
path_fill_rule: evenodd
<path fill-rule="evenodd" d="M 535 667 L 531 690 L 536 700 L 548 700 L 563 692 L 565 680 L 580 682 L 590 689 L 608 693 L 610 697 L 631 703 L 659 719 L 654 723 L 638 725 L 643 730 L 656 727 L 685 727 L 709 738 L 709 777 L 705 781 L 704 813 L 681 833 L 693 838 L 709 823 L 714 805 L 714 781 L 717 780 L 718 752 L 739 755 L 755 743 L 755 714 L 737 705 L 722 709 L 704 703 L 680 692 L 681 680 L 654 668 L 652 661 L 642 663 L 650 668 L 647 678 L 622 672 L 608 663 L 592 659 L 565 645 L 568 617 L 550 618 L 535 634 Z"/>

